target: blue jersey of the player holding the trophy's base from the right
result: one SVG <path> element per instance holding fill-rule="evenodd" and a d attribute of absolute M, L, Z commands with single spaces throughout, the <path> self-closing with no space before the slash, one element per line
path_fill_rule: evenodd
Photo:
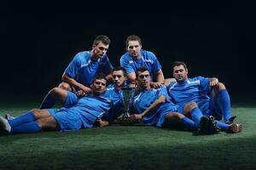
<path fill-rule="evenodd" d="M 166 114 L 177 111 L 177 107 L 173 105 L 172 101 L 168 97 L 166 86 L 158 89 L 151 88 L 137 94 L 133 99 L 132 109 L 137 114 L 142 114 L 143 111 L 152 105 L 155 100 L 159 99 L 161 95 L 166 96 L 166 103 L 160 104 L 153 110 L 149 111 L 148 115 L 143 117 L 143 123 L 161 127 L 163 122 L 165 122 Z"/>

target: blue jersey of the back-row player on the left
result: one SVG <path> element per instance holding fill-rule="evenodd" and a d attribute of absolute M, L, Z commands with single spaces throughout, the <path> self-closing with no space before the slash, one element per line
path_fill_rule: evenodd
<path fill-rule="evenodd" d="M 101 72 L 108 74 L 112 70 L 113 66 L 106 54 L 101 59 L 92 61 L 90 60 L 90 51 L 84 51 L 75 55 L 65 73 L 84 86 L 90 87 L 90 83 L 97 74 Z"/>

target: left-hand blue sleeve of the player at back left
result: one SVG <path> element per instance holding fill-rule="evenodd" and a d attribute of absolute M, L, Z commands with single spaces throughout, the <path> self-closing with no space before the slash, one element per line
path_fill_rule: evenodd
<path fill-rule="evenodd" d="M 69 63 L 69 65 L 67 65 L 67 69 L 65 73 L 69 77 L 72 77 L 72 78 L 76 77 L 77 74 L 79 73 L 80 65 L 81 65 L 80 55 L 76 54 L 73 60 Z"/>

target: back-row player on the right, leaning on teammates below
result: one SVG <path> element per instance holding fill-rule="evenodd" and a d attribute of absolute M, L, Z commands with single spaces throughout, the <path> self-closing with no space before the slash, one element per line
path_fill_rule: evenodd
<path fill-rule="evenodd" d="M 127 77 L 131 84 L 136 83 L 136 71 L 139 67 L 146 67 L 150 73 L 151 88 L 160 88 L 164 82 L 164 74 L 156 56 L 142 49 L 142 40 L 136 35 L 126 38 L 125 46 L 127 52 L 120 58 L 120 65 L 125 68 Z"/>

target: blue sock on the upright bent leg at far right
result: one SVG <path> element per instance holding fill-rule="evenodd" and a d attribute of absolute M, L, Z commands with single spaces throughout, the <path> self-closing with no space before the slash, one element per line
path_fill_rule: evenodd
<path fill-rule="evenodd" d="M 231 109 L 230 109 L 230 95 L 226 89 L 218 91 L 218 105 L 220 110 L 222 111 L 224 122 L 228 122 L 231 117 Z"/>

